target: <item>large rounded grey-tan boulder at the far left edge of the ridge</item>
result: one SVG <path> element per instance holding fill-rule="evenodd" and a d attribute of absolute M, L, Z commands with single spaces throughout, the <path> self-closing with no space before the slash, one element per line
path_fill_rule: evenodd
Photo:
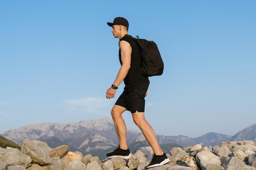
<path fill-rule="evenodd" d="M 0 161 L 6 163 L 6 165 L 21 165 L 24 168 L 31 166 L 32 159 L 28 155 L 20 152 L 17 148 L 7 148 L 2 151 Z"/>

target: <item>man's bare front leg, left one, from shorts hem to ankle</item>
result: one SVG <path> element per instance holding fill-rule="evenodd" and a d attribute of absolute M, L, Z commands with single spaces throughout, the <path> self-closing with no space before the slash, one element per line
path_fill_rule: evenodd
<path fill-rule="evenodd" d="M 126 124 L 122 117 L 122 114 L 126 108 L 118 105 L 114 105 L 111 110 L 111 116 L 115 124 L 115 128 L 117 131 L 117 136 L 119 139 L 119 147 L 123 150 L 128 149 L 127 141 L 126 141 Z"/>

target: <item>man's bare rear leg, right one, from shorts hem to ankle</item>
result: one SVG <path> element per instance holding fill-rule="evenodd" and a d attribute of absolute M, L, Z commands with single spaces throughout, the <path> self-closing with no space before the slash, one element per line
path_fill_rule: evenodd
<path fill-rule="evenodd" d="M 144 112 L 132 113 L 133 121 L 140 128 L 141 132 L 145 136 L 146 140 L 153 149 L 155 155 L 163 155 L 164 152 L 160 148 L 157 137 L 153 128 L 150 126 L 148 121 L 145 119 Z"/>

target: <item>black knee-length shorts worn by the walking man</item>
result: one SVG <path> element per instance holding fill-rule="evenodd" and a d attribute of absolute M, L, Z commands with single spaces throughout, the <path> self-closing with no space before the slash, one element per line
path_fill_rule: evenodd
<path fill-rule="evenodd" d="M 115 105 L 122 106 L 129 110 L 131 113 L 144 112 L 145 110 L 145 94 L 148 91 L 149 82 L 132 86 L 130 88 L 125 87 L 124 92 L 117 99 Z"/>

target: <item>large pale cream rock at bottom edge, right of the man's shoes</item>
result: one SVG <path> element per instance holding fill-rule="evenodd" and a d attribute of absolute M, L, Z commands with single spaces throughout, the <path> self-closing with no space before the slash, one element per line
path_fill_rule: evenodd
<path fill-rule="evenodd" d="M 201 169 L 204 169 L 208 163 L 221 165 L 220 157 L 218 157 L 217 155 L 214 155 L 210 151 L 198 152 L 195 159 L 196 161 L 198 161 Z"/>

